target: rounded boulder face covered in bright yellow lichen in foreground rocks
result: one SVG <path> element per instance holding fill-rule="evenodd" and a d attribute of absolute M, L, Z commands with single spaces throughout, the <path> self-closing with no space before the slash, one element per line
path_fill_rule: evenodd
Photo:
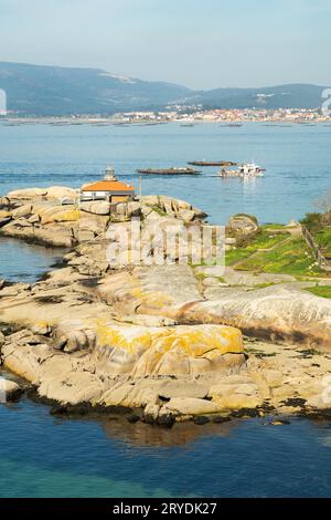
<path fill-rule="evenodd" d="M 241 331 L 224 325 L 147 327 L 114 325 L 98 320 L 96 333 L 105 361 L 126 365 L 128 371 L 135 365 L 134 371 L 140 375 L 188 372 L 190 360 L 211 362 L 224 354 L 243 353 Z"/>

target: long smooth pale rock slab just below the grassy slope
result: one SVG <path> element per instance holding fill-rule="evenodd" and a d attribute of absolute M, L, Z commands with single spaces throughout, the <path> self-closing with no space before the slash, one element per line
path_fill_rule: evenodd
<path fill-rule="evenodd" d="M 209 283 L 202 292 L 192 269 L 175 264 L 108 274 L 97 291 L 118 312 L 158 314 L 179 323 L 227 324 L 257 337 L 331 349 L 330 300 L 303 291 L 290 277 L 284 283 L 247 290 L 238 287 L 232 271 L 203 269 L 223 277 L 203 279 Z M 227 272 L 233 285 L 226 283 Z"/>

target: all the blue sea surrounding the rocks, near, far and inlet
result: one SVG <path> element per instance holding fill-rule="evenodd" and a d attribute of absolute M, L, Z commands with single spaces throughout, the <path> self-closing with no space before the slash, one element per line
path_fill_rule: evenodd
<path fill-rule="evenodd" d="M 314 210 L 314 200 L 331 188 L 330 137 L 327 125 L 0 124 L 0 194 L 78 187 L 109 163 L 138 185 L 140 167 L 254 159 L 267 168 L 265 178 L 221 179 L 216 168 L 207 168 L 201 177 L 143 178 L 142 189 L 190 200 L 217 223 L 237 211 L 286 222 Z M 0 278 L 33 282 L 61 252 L 1 238 Z M 0 497 L 331 496 L 328 422 L 298 418 L 273 426 L 263 417 L 168 430 L 130 425 L 121 416 L 68 419 L 49 412 L 25 398 L 0 404 Z"/>

